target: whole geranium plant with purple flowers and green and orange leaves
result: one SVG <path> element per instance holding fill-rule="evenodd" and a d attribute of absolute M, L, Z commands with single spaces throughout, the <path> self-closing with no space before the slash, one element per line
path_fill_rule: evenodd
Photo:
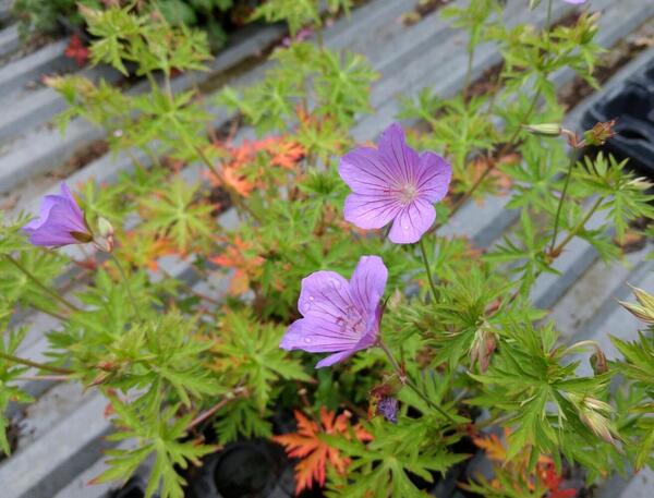
<path fill-rule="evenodd" d="M 550 12 L 556 1 L 530 3 Z M 499 0 L 445 8 L 470 34 L 470 66 L 479 44 L 498 45 L 494 84 L 474 92 L 469 71 L 452 98 L 427 88 L 399 117 L 420 132 L 389 122 L 356 144 L 350 129 L 372 111 L 378 75 L 324 45 L 320 3 L 259 8 L 316 35 L 279 47 L 259 81 L 214 101 L 173 89 L 175 74 L 204 68 L 205 35 L 131 7 L 82 10 L 97 37 L 90 60 L 149 86 L 51 78 L 70 104 L 60 122 L 104 127 L 134 169 L 111 185 L 62 184 L 38 218 L 0 229 L 0 408 L 29 401 L 16 387 L 27 367 L 100 390 L 110 438 L 136 444 L 110 450 L 96 482 L 125 481 L 154 456 L 147 496 L 165 498 L 183 496 L 189 464 L 243 438 L 284 446 L 298 491 L 328 496 L 423 496 L 471 457 L 458 449 L 470 437 L 496 475 L 462 486 L 487 496 L 571 496 L 565 465 L 589 483 L 652 465 L 651 295 L 625 304 L 649 328 L 614 339 L 615 362 L 593 342 L 561 341 L 530 299 L 571 241 L 615 260 L 630 223 L 654 214 L 651 184 L 625 163 L 582 160 L 610 123 L 583 136 L 559 124 L 552 75 L 571 68 L 594 83 L 596 15 L 507 27 Z M 238 111 L 258 137 L 241 139 L 237 121 L 213 129 L 211 106 Z M 468 201 L 500 189 L 520 212 L 510 236 L 481 252 L 444 234 Z M 87 245 L 90 262 L 66 244 Z M 75 263 L 78 283 L 58 291 Z M 231 279 L 226 295 L 193 283 L 216 277 Z M 27 307 L 56 319 L 47 363 L 16 354 L 25 329 L 11 320 Z M 579 354 L 594 375 L 578 373 Z M 280 411 L 296 433 L 276 434 Z M 493 427 L 504 441 L 484 435 Z M 9 452 L 2 432 L 0 445 Z"/>

